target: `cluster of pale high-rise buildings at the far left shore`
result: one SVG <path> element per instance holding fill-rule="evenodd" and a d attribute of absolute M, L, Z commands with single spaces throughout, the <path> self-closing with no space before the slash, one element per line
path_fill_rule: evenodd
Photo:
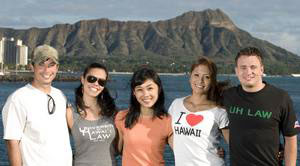
<path fill-rule="evenodd" d="M 13 65 L 28 64 L 28 47 L 22 40 L 3 37 L 0 41 L 0 63 Z"/>

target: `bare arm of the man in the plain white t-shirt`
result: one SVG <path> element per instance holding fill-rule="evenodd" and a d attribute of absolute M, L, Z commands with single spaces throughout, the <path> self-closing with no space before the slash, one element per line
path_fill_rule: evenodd
<path fill-rule="evenodd" d="M 21 166 L 22 157 L 19 147 L 19 140 L 6 140 L 8 159 L 11 166 Z"/>

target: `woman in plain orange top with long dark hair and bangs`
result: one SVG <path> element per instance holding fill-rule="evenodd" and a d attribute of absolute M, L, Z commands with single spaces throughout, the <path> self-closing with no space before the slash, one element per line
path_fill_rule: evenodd
<path fill-rule="evenodd" d="M 129 110 L 116 116 L 122 165 L 165 165 L 163 152 L 172 136 L 171 117 L 164 108 L 161 80 L 152 69 L 137 70 L 131 78 Z"/>

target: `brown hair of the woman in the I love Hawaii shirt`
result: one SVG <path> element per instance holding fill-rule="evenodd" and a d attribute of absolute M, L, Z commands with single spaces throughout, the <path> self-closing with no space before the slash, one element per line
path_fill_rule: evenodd
<path fill-rule="evenodd" d="M 208 89 L 207 93 L 207 100 L 216 102 L 217 105 L 222 105 L 222 95 L 223 91 L 229 87 L 229 81 L 217 81 L 217 66 L 216 64 L 206 58 L 206 57 L 200 57 L 196 63 L 194 63 L 191 67 L 191 73 L 193 70 L 198 67 L 199 65 L 205 65 L 208 67 L 211 82 L 210 82 L 210 88 Z"/>

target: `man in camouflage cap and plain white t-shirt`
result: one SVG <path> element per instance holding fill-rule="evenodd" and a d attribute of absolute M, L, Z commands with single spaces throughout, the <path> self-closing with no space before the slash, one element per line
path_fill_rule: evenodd
<path fill-rule="evenodd" d="M 31 84 L 12 93 L 2 110 L 10 164 L 71 166 L 66 97 L 51 86 L 58 71 L 57 51 L 48 45 L 37 47 L 31 68 Z"/>

